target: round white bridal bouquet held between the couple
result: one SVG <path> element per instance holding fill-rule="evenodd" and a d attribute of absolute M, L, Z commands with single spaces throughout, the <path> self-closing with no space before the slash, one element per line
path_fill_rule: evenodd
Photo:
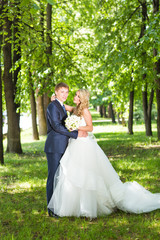
<path fill-rule="evenodd" d="M 80 117 L 76 116 L 76 115 L 71 115 L 68 118 L 66 118 L 65 120 L 65 125 L 66 128 L 69 131 L 73 131 L 73 130 L 77 130 L 79 125 L 80 125 Z"/>

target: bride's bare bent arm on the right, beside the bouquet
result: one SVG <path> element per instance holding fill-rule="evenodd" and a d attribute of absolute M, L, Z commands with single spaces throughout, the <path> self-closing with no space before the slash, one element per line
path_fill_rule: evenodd
<path fill-rule="evenodd" d="M 86 122 L 86 126 L 81 126 L 78 130 L 92 132 L 93 131 L 93 124 L 92 124 L 92 116 L 88 108 L 83 110 L 83 117 Z"/>

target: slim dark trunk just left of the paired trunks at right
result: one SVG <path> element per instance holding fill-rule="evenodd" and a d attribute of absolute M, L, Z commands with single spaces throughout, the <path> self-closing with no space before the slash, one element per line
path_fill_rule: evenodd
<path fill-rule="evenodd" d="M 130 92 L 130 97 L 129 97 L 129 118 L 128 118 L 129 134 L 133 134 L 133 103 L 134 103 L 134 90 Z"/>

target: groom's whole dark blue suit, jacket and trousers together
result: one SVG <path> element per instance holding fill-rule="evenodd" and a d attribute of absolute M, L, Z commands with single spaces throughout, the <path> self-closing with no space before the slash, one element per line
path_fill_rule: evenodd
<path fill-rule="evenodd" d="M 45 149 L 48 162 L 47 204 L 53 194 L 54 175 L 60 159 L 68 145 L 68 139 L 77 138 L 78 131 L 69 132 L 65 127 L 67 118 L 59 101 L 55 100 L 47 108 L 47 139 Z"/>

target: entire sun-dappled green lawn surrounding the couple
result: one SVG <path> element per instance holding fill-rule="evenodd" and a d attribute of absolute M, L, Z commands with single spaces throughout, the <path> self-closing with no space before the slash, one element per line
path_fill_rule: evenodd
<path fill-rule="evenodd" d="M 92 115 L 98 144 L 121 180 L 136 180 L 148 190 L 160 192 L 160 142 L 156 125 L 153 137 L 145 136 L 142 124 L 134 126 L 131 136 L 126 127 L 104 121 L 93 111 Z M 45 137 L 33 141 L 31 130 L 27 130 L 22 132 L 24 153 L 5 154 L 5 165 L 0 166 L 0 239 L 160 239 L 160 210 L 140 215 L 117 210 L 93 220 L 49 218 L 44 142 Z"/>

